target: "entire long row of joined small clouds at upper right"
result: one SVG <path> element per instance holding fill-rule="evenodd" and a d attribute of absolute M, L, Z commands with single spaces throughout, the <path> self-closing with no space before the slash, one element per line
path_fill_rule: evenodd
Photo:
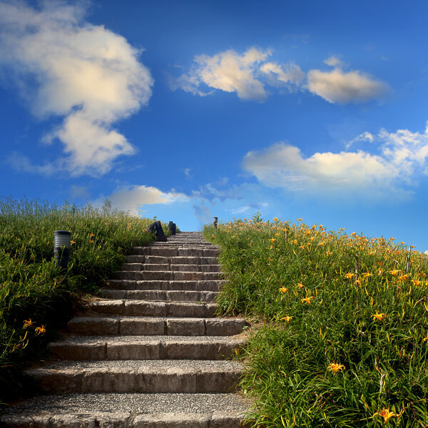
<path fill-rule="evenodd" d="M 312 69 L 305 73 L 293 61 L 280 64 L 268 61 L 270 50 L 250 48 L 243 54 L 232 49 L 213 56 L 195 56 L 196 66 L 178 78 L 170 78 L 170 87 L 206 96 L 218 89 L 235 92 L 243 100 L 265 101 L 266 86 L 287 88 L 293 92 L 310 91 L 330 103 L 365 103 L 383 98 L 387 83 L 359 70 L 342 71 L 344 63 L 337 56 L 325 59 L 330 71 Z M 210 91 L 203 91 L 203 85 Z"/>

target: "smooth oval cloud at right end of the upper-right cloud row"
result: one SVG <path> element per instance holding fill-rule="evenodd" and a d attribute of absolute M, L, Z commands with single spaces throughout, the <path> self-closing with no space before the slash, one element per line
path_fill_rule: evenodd
<path fill-rule="evenodd" d="M 387 95 L 388 86 L 361 71 L 310 70 L 307 89 L 330 103 L 366 103 Z"/>

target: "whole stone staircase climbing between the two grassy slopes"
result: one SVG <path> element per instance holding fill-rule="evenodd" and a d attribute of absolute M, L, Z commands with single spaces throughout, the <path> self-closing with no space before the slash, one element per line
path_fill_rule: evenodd
<path fill-rule="evenodd" d="M 107 298 L 49 344 L 56 360 L 27 370 L 46 394 L 8 409 L 2 427 L 240 426 L 242 367 L 227 359 L 245 320 L 213 316 L 225 282 L 218 248 L 187 232 L 133 250 Z"/>

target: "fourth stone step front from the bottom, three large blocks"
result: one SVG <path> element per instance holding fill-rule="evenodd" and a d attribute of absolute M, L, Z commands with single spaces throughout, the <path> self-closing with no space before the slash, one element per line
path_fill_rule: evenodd
<path fill-rule="evenodd" d="M 243 318 L 76 317 L 67 330 L 76 335 L 233 336 Z"/>

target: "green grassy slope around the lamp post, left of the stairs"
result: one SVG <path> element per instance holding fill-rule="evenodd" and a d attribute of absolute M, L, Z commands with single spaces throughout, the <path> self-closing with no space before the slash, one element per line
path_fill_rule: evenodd
<path fill-rule="evenodd" d="M 152 219 L 87 204 L 0 199 L 0 404 L 31 387 L 23 367 L 71 317 L 78 295 L 96 293 L 134 246 L 147 245 Z M 68 270 L 53 260 L 54 231 L 71 232 Z M 168 235 L 168 226 L 163 223 Z"/>

